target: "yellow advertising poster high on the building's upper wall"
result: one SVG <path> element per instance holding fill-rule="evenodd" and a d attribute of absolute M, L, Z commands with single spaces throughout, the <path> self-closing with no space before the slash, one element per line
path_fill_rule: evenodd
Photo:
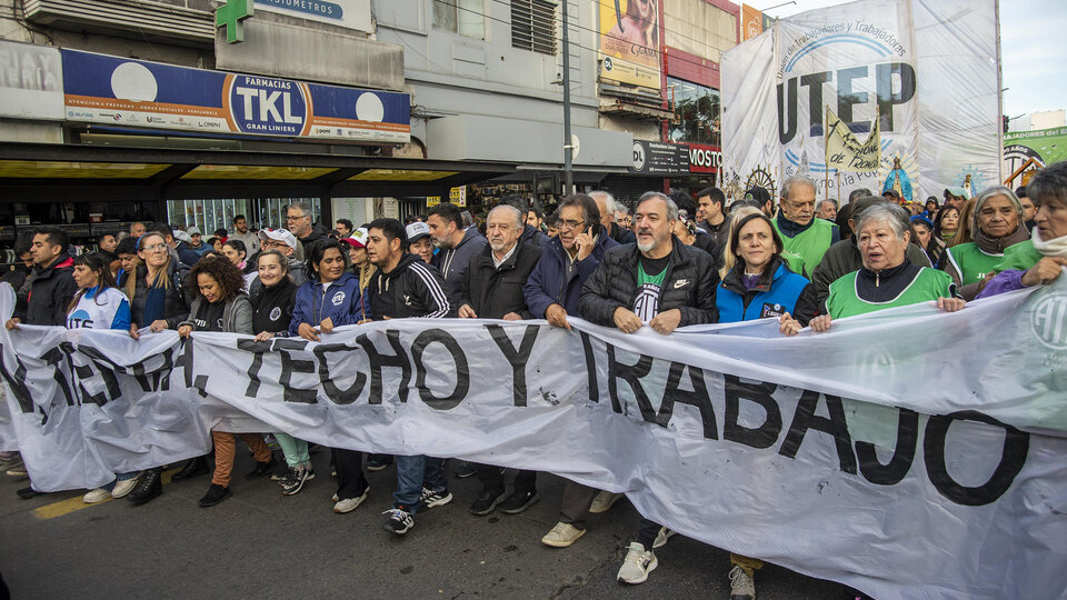
<path fill-rule="evenodd" d="M 598 1 L 600 78 L 660 88 L 659 0 Z"/>

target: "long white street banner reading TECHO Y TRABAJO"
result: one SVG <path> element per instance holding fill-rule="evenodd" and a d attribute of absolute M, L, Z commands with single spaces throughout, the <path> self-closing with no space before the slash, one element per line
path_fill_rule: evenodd
<path fill-rule="evenodd" d="M 772 319 L 574 324 L 407 319 L 320 343 L 0 329 L 0 444 L 56 490 L 203 453 L 210 427 L 286 431 L 556 472 L 879 599 L 1067 593 L 1067 277 L 796 338 Z"/>

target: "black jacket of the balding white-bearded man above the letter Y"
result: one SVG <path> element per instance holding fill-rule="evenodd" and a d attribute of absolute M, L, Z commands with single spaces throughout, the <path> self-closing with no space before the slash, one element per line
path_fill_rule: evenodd
<path fill-rule="evenodd" d="M 498 269 L 492 264 L 492 248 L 487 243 L 467 266 L 459 306 L 470 304 L 479 319 L 502 319 L 509 312 L 532 319 L 526 308 L 522 286 L 540 258 L 540 247 L 519 240 L 515 251 Z"/>

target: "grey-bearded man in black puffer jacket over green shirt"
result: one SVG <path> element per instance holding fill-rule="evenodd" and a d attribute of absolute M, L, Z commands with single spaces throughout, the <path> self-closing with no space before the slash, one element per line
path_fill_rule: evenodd
<path fill-rule="evenodd" d="M 712 323 L 719 276 L 710 254 L 682 243 L 671 233 L 678 206 L 659 192 L 646 192 L 634 222 L 637 243 L 609 250 L 586 281 L 578 300 L 582 319 L 634 333 L 645 324 L 660 334 L 677 327 Z M 656 568 L 652 542 L 660 526 L 641 519 L 616 579 L 640 583 Z"/>

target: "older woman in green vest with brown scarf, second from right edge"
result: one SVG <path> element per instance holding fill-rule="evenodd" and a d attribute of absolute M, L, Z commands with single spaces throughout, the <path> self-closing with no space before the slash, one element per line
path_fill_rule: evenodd
<path fill-rule="evenodd" d="M 978 194 L 971 218 L 974 241 L 950 247 L 941 268 L 959 286 L 965 300 L 981 291 L 986 276 L 996 272 L 1006 249 L 1030 238 L 1023 224 L 1023 204 L 1010 188 L 994 186 Z"/>

